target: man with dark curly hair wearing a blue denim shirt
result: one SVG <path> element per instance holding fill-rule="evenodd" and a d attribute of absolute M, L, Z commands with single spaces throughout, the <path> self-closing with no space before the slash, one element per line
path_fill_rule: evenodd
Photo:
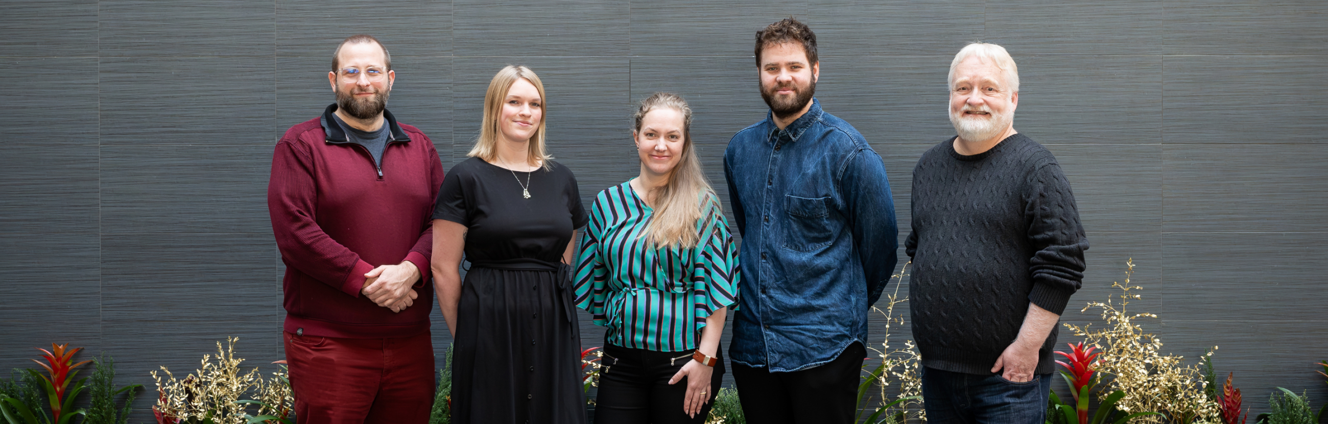
<path fill-rule="evenodd" d="M 890 182 L 862 134 L 813 98 L 807 25 L 757 32 L 756 60 L 770 113 L 724 152 L 742 233 L 733 378 L 749 423 L 853 423 L 867 310 L 896 260 Z"/>

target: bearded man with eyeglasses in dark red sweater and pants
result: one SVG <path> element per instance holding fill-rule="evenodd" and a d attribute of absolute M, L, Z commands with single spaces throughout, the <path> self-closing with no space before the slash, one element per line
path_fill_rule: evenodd
<path fill-rule="evenodd" d="M 382 42 L 345 38 L 328 73 L 336 103 L 272 155 L 267 201 L 303 423 L 426 423 L 433 405 L 429 217 L 442 163 L 385 109 L 394 81 Z"/>

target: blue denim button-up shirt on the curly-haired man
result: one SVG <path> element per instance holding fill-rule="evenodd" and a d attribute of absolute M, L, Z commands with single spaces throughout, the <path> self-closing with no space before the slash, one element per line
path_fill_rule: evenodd
<path fill-rule="evenodd" d="M 724 175 L 742 235 L 730 360 L 799 371 L 866 344 L 899 228 L 886 167 L 862 134 L 813 99 L 784 130 L 768 114 L 733 135 Z"/>

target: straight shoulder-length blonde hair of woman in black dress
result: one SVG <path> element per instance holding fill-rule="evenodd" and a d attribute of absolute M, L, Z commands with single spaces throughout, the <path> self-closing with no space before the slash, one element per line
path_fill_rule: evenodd
<path fill-rule="evenodd" d="M 502 134 L 502 130 L 498 129 L 498 117 L 502 117 L 503 99 L 507 98 L 507 91 L 511 90 L 513 83 L 517 83 L 517 80 L 530 81 L 535 86 L 535 90 L 539 91 L 539 127 L 535 129 L 535 134 L 530 135 L 530 150 L 526 154 L 526 163 L 530 166 L 540 166 L 542 163 L 548 170 L 548 160 L 554 159 L 554 156 L 550 156 L 544 151 L 544 122 L 548 121 L 548 98 L 544 97 L 544 83 L 539 82 L 539 76 L 535 76 L 535 72 L 530 70 L 530 68 L 521 65 L 503 66 L 489 81 L 489 90 L 485 91 L 485 119 L 479 126 L 479 138 L 475 139 L 475 147 L 471 147 L 466 156 L 479 158 L 489 163 L 493 163 L 498 158 L 498 136 Z"/>

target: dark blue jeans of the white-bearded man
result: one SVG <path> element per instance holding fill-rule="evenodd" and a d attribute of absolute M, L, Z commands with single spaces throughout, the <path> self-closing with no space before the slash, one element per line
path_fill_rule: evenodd
<path fill-rule="evenodd" d="M 922 396 L 930 424 L 1035 424 L 1046 420 L 1052 375 L 1015 383 L 1000 374 L 973 375 L 923 367 Z"/>

